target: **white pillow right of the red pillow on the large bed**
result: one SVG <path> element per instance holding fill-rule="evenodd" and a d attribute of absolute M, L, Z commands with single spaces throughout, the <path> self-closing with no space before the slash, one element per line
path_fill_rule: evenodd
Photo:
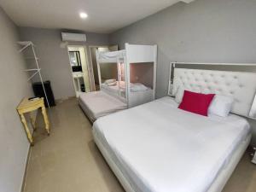
<path fill-rule="evenodd" d="M 234 98 L 232 96 L 215 95 L 208 108 L 208 114 L 227 117 L 231 111 L 233 102 Z"/>

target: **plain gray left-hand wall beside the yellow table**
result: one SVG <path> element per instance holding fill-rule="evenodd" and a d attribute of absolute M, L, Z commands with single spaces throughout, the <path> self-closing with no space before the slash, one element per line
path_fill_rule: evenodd
<path fill-rule="evenodd" d="M 17 28 L 0 7 L 0 191 L 20 191 L 29 144 L 16 107 L 32 96 L 18 52 Z"/>

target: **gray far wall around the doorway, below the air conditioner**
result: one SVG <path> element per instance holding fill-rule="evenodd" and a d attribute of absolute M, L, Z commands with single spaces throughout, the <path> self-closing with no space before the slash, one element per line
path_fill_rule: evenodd
<path fill-rule="evenodd" d="M 67 48 L 61 46 L 61 30 L 19 27 L 20 39 L 36 45 L 39 65 L 44 79 L 51 81 L 55 99 L 75 96 Z M 108 44 L 108 35 L 85 32 L 87 41 L 81 45 Z M 78 43 L 71 42 L 70 45 Z M 90 62 L 90 52 L 87 49 Z M 91 65 L 91 63 L 89 63 Z"/>

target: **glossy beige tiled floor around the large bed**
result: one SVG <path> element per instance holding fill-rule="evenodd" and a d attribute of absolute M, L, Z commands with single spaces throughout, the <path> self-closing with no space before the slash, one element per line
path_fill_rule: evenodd
<path fill-rule="evenodd" d="M 24 192 L 123 192 L 91 136 L 91 125 L 76 99 L 49 111 L 51 134 L 42 118 L 34 134 Z M 245 154 L 224 192 L 255 192 L 256 166 Z"/>

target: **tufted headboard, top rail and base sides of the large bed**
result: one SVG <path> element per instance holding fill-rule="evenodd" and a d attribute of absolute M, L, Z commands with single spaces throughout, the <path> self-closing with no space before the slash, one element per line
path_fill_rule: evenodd
<path fill-rule="evenodd" d="M 229 88 L 228 95 L 234 96 L 236 101 L 236 103 L 234 104 L 235 107 L 232 109 L 232 112 L 239 114 L 241 116 L 245 116 L 245 117 L 248 116 L 249 111 L 251 110 L 251 106 L 254 100 L 254 95 L 256 90 L 256 84 L 255 83 L 252 84 L 252 82 L 256 82 L 256 73 L 237 73 L 237 72 L 227 72 L 227 71 L 217 71 L 217 70 L 214 71 L 214 70 L 195 70 L 195 69 L 188 69 L 188 68 L 185 68 L 185 69 L 177 68 L 177 71 L 174 72 L 174 78 L 172 79 L 172 70 L 173 70 L 173 67 L 175 68 L 175 65 L 177 64 L 179 63 L 172 62 L 171 64 L 169 89 L 168 89 L 169 96 L 175 95 L 173 93 L 175 92 L 175 90 L 177 90 L 178 86 L 186 87 L 189 85 L 189 86 L 192 86 L 192 88 L 193 86 L 200 86 L 202 89 L 207 88 L 209 90 L 213 90 L 214 93 L 218 93 L 218 94 L 221 94 L 221 93 L 227 94 L 227 92 L 225 92 L 226 91 L 225 89 Z M 181 63 L 181 64 L 191 65 L 193 63 Z M 198 63 L 194 63 L 194 64 L 198 64 Z M 209 65 L 209 64 L 201 63 L 201 65 Z M 237 66 L 242 64 L 215 63 L 210 65 Z M 252 66 L 252 64 L 248 64 L 248 65 Z M 182 79 L 180 79 L 181 77 Z M 189 79 L 192 77 L 194 77 L 194 79 L 192 80 L 193 83 L 189 83 Z M 218 84 L 215 84 L 215 86 L 213 86 L 212 80 L 205 79 L 205 77 L 212 77 L 212 79 L 213 77 L 214 78 L 220 77 L 220 79 L 222 80 L 220 80 Z M 233 81 L 231 82 L 228 81 L 228 79 L 230 78 L 233 79 Z M 232 87 L 232 89 L 234 90 L 230 91 L 230 87 Z M 247 94 L 244 94 L 244 91 L 246 91 Z M 96 133 L 94 131 L 93 131 L 93 137 L 97 147 L 101 150 L 102 155 L 107 160 L 108 165 L 111 167 L 116 177 L 118 177 L 119 182 L 122 184 L 125 191 L 136 192 L 132 188 L 131 183 L 129 183 L 129 181 L 125 178 L 123 173 L 119 170 L 119 167 L 114 163 L 114 161 L 111 158 L 111 155 L 108 154 L 108 151 L 106 150 L 104 145 L 101 143 L 101 140 L 96 136 Z M 226 162 L 224 168 L 218 173 L 218 176 L 212 182 L 212 185 L 207 190 L 207 192 L 221 192 L 222 189 L 224 189 L 224 185 L 230 178 L 232 172 L 234 172 L 238 162 L 241 160 L 241 157 L 246 151 L 250 141 L 251 141 L 251 134 L 247 136 L 247 138 L 236 149 L 234 154 L 232 154 L 230 159 Z"/>

